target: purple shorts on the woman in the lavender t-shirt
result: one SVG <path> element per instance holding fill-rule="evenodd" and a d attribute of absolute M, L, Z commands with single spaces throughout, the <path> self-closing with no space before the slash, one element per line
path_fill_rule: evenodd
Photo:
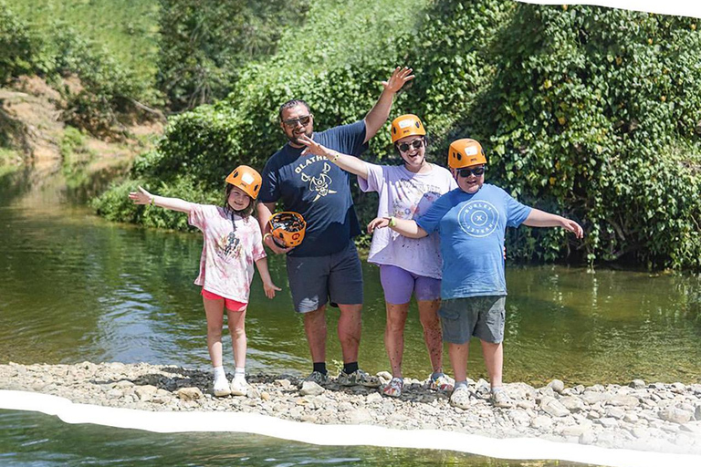
<path fill-rule="evenodd" d="M 397 266 L 380 265 L 380 281 L 384 301 L 392 305 L 409 303 L 412 294 L 416 300 L 437 300 L 441 297 L 441 279 L 415 275 Z"/>

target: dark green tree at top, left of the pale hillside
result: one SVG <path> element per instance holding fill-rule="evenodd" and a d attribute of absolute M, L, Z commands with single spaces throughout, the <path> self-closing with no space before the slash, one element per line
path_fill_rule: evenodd
<path fill-rule="evenodd" d="M 252 59 L 275 51 L 309 0 L 160 0 L 158 87 L 174 111 L 223 99 Z"/>

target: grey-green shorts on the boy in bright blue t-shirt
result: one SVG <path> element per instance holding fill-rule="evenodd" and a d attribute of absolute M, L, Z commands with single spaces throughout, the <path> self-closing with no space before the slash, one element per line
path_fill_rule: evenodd
<path fill-rule="evenodd" d="M 451 344 L 465 344 L 475 336 L 498 344 L 504 340 L 504 322 L 507 296 L 469 296 L 443 300 L 438 316 L 441 317 L 443 340 Z"/>

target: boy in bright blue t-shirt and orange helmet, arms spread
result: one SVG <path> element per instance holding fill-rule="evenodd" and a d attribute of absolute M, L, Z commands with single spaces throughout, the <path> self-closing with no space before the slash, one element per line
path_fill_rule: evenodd
<path fill-rule="evenodd" d="M 556 214 L 521 204 L 507 192 L 485 184 L 487 158 L 476 140 L 453 141 L 448 150 L 458 188 L 441 196 L 417 221 L 377 218 L 368 229 L 389 226 L 407 237 L 438 232 L 443 256 L 441 308 L 443 339 L 455 372 L 450 402 L 469 407 L 467 355 L 470 337 L 482 343 L 489 373 L 491 400 L 497 407 L 513 402 L 502 388 L 507 282 L 504 275 L 504 233 L 521 223 L 531 227 L 562 227 L 583 236 L 581 226 Z"/>

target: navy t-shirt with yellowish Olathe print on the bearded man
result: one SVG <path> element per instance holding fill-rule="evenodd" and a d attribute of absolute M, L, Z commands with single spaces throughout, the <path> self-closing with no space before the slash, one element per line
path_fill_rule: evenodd
<path fill-rule="evenodd" d="M 368 148 L 365 121 L 314 133 L 314 140 L 332 150 L 360 156 Z M 351 176 L 323 156 L 302 156 L 303 148 L 286 144 L 267 161 L 258 200 L 282 199 L 285 211 L 302 214 L 307 229 L 291 256 L 323 256 L 340 252 L 361 226 L 351 197 Z"/>

